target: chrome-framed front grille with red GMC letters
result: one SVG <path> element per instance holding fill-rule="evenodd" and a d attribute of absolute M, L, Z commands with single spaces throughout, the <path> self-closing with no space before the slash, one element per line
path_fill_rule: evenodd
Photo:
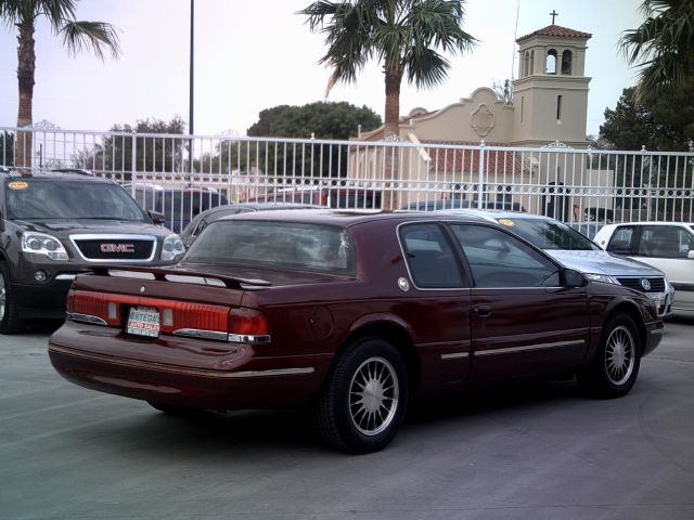
<path fill-rule="evenodd" d="M 70 238 L 89 262 L 147 262 L 156 251 L 156 237 L 149 235 L 73 235 Z"/>

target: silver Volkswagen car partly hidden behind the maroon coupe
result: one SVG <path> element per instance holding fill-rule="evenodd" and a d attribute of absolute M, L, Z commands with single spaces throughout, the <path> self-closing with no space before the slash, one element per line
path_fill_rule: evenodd
<path fill-rule="evenodd" d="M 498 222 L 564 265 L 580 271 L 590 278 L 625 285 L 646 294 L 656 302 L 661 316 L 672 312 L 676 290 L 666 273 L 647 263 L 611 255 L 558 220 L 504 211 L 464 212 Z"/>

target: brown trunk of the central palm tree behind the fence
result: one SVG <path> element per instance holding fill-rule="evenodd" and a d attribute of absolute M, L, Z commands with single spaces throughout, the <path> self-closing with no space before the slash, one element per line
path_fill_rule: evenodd
<path fill-rule="evenodd" d="M 394 146 L 383 148 L 385 155 L 384 191 L 382 197 L 383 209 L 397 209 L 398 196 L 395 188 L 399 185 L 399 148 L 395 145 L 400 138 L 400 83 L 402 73 L 400 70 L 386 70 L 386 108 L 384 140 L 394 143 Z"/>

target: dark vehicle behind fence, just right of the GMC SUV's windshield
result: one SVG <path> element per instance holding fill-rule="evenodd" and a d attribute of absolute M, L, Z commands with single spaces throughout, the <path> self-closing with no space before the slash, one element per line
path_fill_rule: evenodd
<path fill-rule="evenodd" d="M 136 184 L 134 190 L 132 185 L 125 188 L 144 209 L 164 213 L 164 225 L 177 233 L 201 211 L 229 204 L 222 194 L 204 186 Z"/>

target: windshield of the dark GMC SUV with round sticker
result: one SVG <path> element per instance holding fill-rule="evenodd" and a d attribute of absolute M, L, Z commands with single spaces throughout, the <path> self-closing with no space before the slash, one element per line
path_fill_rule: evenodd
<path fill-rule="evenodd" d="M 5 194 L 10 219 L 149 220 L 127 192 L 106 182 L 14 179 L 7 181 Z"/>

